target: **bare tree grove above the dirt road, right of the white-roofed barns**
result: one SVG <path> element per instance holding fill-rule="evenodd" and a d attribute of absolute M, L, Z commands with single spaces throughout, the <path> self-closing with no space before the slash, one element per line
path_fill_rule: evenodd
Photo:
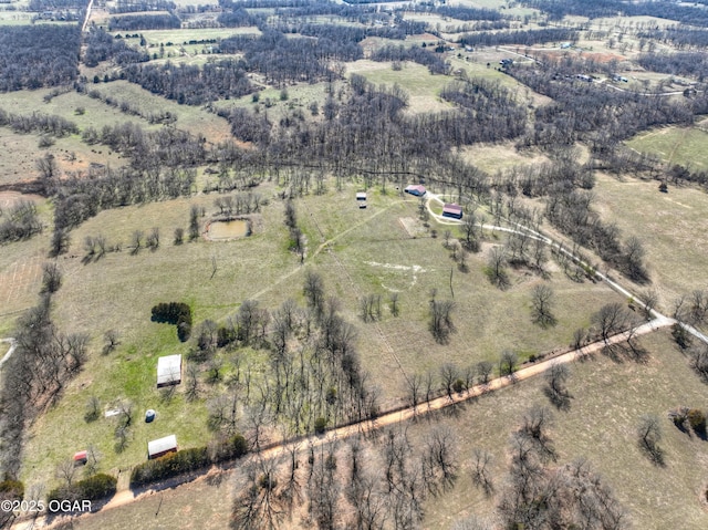
<path fill-rule="evenodd" d="M 188 357 L 219 389 L 208 403 L 214 432 L 230 435 L 240 427 L 250 447 L 258 448 L 272 425 L 301 435 L 377 415 L 378 389 L 361 367 L 356 330 L 341 316 L 339 300 L 326 295 L 312 270 L 303 292 L 308 308 L 287 300 L 268 311 L 246 300 L 226 323 L 205 321 L 196 328 Z M 268 375 L 256 377 L 257 368 L 243 366 L 238 353 L 218 352 L 246 346 L 268 352 Z M 199 392 L 198 373 L 188 368 L 191 395 Z"/>

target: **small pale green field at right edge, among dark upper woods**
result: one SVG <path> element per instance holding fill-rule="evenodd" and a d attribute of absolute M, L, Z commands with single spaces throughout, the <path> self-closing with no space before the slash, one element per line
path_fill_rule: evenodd
<path fill-rule="evenodd" d="M 642 153 L 659 156 L 694 172 L 708 169 L 708 133 L 696 127 L 667 126 L 641 133 L 626 144 Z"/>

